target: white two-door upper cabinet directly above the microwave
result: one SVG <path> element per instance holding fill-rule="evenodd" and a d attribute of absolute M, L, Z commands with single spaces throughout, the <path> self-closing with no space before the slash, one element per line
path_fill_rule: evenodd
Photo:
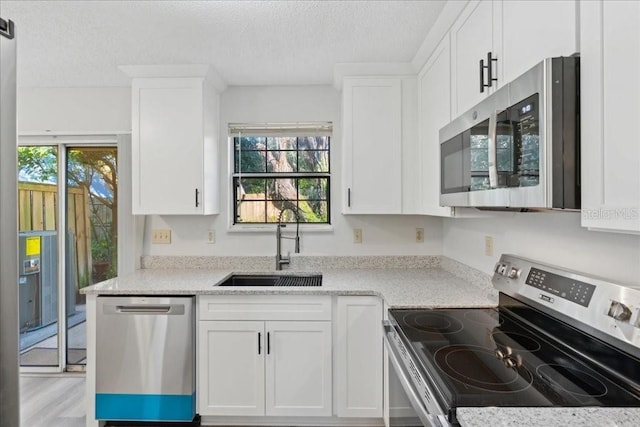
<path fill-rule="evenodd" d="M 574 0 L 469 2 L 450 32 L 453 118 L 544 58 L 576 53 L 576 9 Z"/>

